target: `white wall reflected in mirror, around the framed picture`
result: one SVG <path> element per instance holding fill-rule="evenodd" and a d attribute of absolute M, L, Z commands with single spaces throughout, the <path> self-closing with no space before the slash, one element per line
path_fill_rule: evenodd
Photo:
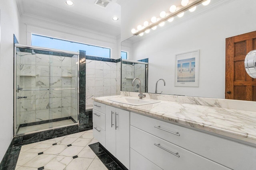
<path fill-rule="evenodd" d="M 255 6 L 254 0 L 230 1 L 134 44 L 130 59 L 149 58 L 148 92 L 154 92 L 156 81 L 163 78 L 166 86 L 159 82 L 158 91 L 164 94 L 225 98 L 225 41 L 256 30 Z M 196 49 L 200 49 L 199 87 L 174 87 L 175 54 Z"/>

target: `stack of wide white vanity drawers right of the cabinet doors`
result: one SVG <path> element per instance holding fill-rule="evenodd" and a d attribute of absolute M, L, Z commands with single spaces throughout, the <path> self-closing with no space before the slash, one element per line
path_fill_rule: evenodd
<path fill-rule="evenodd" d="M 254 147 L 138 113 L 130 113 L 130 125 L 131 155 L 140 154 L 131 170 L 143 157 L 164 170 L 256 169 Z"/>

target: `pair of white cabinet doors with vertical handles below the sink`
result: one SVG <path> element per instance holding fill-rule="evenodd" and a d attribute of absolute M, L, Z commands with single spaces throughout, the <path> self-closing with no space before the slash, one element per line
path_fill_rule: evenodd
<path fill-rule="evenodd" d="M 130 112 L 106 105 L 106 149 L 130 169 Z"/>

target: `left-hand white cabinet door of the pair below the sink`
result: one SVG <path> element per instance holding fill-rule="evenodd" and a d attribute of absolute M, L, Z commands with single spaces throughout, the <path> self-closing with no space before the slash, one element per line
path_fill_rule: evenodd
<path fill-rule="evenodd" d="M 116 108 L 106 105 L 106 149 L 116 157 L 115 114 Z"/>

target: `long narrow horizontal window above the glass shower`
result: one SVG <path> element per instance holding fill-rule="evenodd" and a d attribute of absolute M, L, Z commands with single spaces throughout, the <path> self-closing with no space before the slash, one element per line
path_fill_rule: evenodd
<path fill-rule="evenodd" d="M 74 52 L 83 50 L 83 51 L 86 51 L 86 55 L 110 58 L 110 49 L 108 48 L 76 43 L 76 42 L 56 39 L 52 37 L 45 37 L 42 35 L 32 34 L 31 45 L 37 46 L 37 47 L 60 49 L 60 50 L 74 51 Z"/>

